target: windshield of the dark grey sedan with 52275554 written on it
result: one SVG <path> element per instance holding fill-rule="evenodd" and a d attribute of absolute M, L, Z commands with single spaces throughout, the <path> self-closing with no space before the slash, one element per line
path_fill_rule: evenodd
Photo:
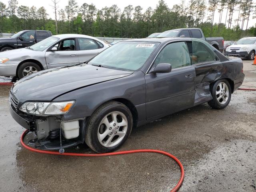
<path fill-rule="evenodd" d="M 159 44 L 158 42 L 119 42 L 95 56 L 88 64 L 136 71 L 144 65 Z"/>

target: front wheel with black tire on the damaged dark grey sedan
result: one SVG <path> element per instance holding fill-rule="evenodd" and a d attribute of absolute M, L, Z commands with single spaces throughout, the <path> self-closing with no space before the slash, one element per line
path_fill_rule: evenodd
<path fill-rule="evenodd" d="M 116 116 L 114 121 L 113 116 Z M 90 117 L 85 131 L 85 142 L 97 153 L 114 151 L 127 140 L 132 124 L 132 113 L 127 106 L 120 102 L 108 102 Z"/>

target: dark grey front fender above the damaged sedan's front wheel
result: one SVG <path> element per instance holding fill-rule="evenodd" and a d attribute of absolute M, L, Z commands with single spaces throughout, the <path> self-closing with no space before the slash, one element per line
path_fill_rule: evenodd
<path fill-rule="evenodd" d="M 110 100 L 123 98 L 134 106 L 146 102 L 144 73 L 134 72 L 130 76 L 109 80 L 68 92 L 54 101 L 76 100 L 75 106 L 64 115 L 64 120 L 91 116 L 102 104 Z"/>

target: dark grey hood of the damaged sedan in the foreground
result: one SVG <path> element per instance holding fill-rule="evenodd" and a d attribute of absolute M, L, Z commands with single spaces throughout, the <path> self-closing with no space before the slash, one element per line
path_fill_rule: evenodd
<path fill-rule="evenodd" d="M 133 72 L 82 64 L 43 70 L 16 82 L 12 88 L 19 102 L 52 100 L 72 90 L 100 82 L 122 78 Z M 18 90 L 18 91 L 17 91 Z"/>

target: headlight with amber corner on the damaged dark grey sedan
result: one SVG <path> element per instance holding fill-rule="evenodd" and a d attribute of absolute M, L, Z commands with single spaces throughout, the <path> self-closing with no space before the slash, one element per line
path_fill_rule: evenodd
<path fill-rule="evenodd" d="M 33 115 L 61 115 L 67 113 L 74 101 L 65 102 L 26 102 L 20 110 Z"/>

